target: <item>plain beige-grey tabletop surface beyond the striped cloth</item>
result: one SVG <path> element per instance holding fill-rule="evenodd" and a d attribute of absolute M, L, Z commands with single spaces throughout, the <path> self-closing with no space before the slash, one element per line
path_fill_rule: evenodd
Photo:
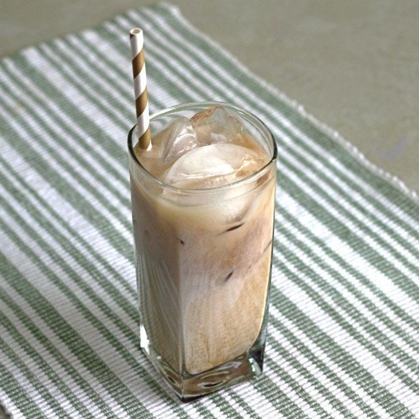
<path fill-rule="evenodd" d="M 150 1 L 0 0 L 0 56 Z M 251 71 L 419 191 L 418 1 L 171 2 Z"/>

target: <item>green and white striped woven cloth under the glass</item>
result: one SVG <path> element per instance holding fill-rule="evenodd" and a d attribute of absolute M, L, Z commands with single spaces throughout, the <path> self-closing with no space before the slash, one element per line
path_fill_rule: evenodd
<path fill-rule="evenodd" d="M 279 147 L 265 372 L 180 404 L 142 355 L 128 30 L 152 111 L 219 100 Z M 419 206 L 172 6 L 0 63 L 0 401 L 14 418 L 419 416 Z M 410 196 L 409 196 L 410 195 Z"/>

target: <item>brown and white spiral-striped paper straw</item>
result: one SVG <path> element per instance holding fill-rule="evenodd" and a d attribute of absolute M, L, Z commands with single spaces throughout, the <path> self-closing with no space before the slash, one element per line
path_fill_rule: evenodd
<path fill-rule="evenodd" d="M 137 111 L 138 145 L 142 149 L 151 147 L 149 128 L 149 106 L 147 98 L 147 80 L 145 77 L 144 38 L 139 28 L 129 31 L 131 53 L 133 57 L 133 76 L 135 91 L 135 110 Z"/>

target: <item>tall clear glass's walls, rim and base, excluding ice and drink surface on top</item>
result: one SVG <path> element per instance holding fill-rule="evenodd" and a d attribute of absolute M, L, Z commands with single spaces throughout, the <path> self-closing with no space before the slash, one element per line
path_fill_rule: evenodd
<path fill-rule="evenodd" d="M 157 112 L 152 132 L 217 103 Z M 267 325 L 277 147 L 251 113 L 223 103 L 270 160 L 210 189 L 178 189 L 152 176 L 128 135 L 140 344 L 183 401 L 262 372 Z"/>

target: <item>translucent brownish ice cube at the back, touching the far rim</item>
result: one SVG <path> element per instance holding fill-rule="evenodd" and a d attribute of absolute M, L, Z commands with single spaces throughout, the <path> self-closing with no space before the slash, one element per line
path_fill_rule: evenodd
<path fill-rule="evenodd" d="M 236 117 L 220 105 L 203 110 L 191 118 L 200 145 L 220 142 L 244 145 L 248 134 Z"/>

